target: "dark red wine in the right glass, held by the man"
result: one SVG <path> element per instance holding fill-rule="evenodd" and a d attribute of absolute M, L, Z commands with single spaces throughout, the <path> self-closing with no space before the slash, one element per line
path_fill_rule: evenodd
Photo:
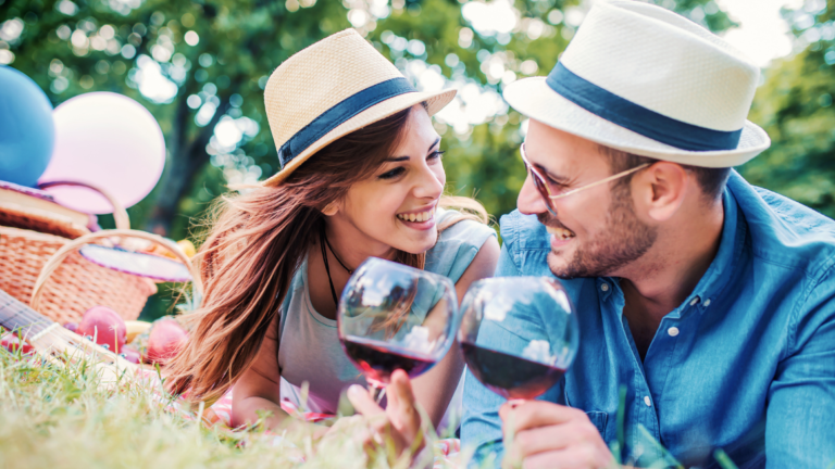
<path fill-rule="evenodd" d="M 487 389 L 507 398 L 534 398 L 557 384 L 565 373 L 529 359 L 461 342 L 470 371 Z"/>

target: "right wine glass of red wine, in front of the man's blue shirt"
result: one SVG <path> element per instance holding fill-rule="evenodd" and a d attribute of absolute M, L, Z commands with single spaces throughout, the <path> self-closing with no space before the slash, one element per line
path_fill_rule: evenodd
<path fill-rule="evenodd" d="M 579 329 L 565 290 L 546 277 L 474 282 L 458 340 L 470 371 L 506 397 L 531 400 L 557 384 L 577 352 Z"/>

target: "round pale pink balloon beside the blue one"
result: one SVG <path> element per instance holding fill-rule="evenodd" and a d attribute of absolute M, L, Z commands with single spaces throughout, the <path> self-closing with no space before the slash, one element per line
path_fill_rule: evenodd
<path fill-rule="evenodd" d="M 75 97 L 55 107 L 55 150 L 40 182 L 85 182 L 110 192 L 123 206 L 145 199 L 165 166 L 165 140 L 150 112 L 112 92 Z M 107 199 L 75 187 L 47 189 L 59 203 L 105 214 Z"/>

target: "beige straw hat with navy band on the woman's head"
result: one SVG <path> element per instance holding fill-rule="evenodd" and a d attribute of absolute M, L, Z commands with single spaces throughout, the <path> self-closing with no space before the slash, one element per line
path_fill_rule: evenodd
<path fill-rule="evenodd" d="M 282 170 L 263 185 L 281 183 L 342 136 L 424 101 L 433 115 L 454 96 L 419 92 L 353 29 L 328 36 L 289 58 L 266 83 L 266 117 Z"/>

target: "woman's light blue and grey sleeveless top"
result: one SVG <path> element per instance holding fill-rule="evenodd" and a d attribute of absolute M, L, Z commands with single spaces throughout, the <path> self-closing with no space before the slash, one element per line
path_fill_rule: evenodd
<path fill-rule="evenodd" d="M 456 211 L 436 212 L 438 224 L 458 215 Z M 473 220 L 459 221 L 438 237 L 426 253 L 425 269 L 457 282 L 470 266 L 487 238 L 496 236 L 488 226 Z M 459 299 L 460 300 L 460 299 Z M 335 414 L 340 392 L 351 384 L 366 385 L 360 371 L 348 359 L 339 343 L 336 320 L 319 314 L 310 301 L 308 258 L 294 276 L 282 305 L 278 364 L 282 368 L 282 398 L 299 404 L 299 388 L 307 381 L 307 407 L 312 411 Z"/>

